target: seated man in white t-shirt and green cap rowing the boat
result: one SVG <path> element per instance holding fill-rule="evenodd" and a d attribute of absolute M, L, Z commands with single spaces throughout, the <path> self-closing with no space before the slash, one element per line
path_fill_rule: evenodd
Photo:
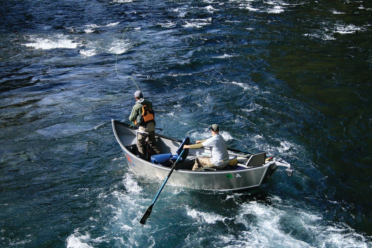
<path fill-rule="evenodd" d="M 229 154 L 226 148 L 226 142 L 222 135 L 219 134 L 219 126 L 213 124 L 211 127 L 212 137 L 196 141 L 194 145 L 184 145 L 183 148 L 199 149 L 204 146 L 211 148 L 212 157 L 198 157 L 192 170 L 198 170 L 202 167 L 225 168 L 229 164 Z"/>

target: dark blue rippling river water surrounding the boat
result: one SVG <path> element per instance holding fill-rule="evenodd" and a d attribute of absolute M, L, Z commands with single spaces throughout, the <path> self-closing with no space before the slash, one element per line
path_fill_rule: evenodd
<path fill-rule="evenodd" d="M 1 1 L 0 247 L 371 247 L 371 1 Z M 128 27 L 129 25 L 129 27 Z M 128 29 L 127 29 L 128 28 Z M 127 30 L 126 30 L 127 29 Z M 125 32 L 126 30 L 126 32 Z M 254 190 L 133 174 L 111 119 L 277 155 Z"/>

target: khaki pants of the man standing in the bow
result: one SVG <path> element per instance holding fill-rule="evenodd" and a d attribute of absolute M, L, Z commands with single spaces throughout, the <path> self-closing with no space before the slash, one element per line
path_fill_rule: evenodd
<path fill-rule="evenodd" d="M 138 130 L 141 132 L 147 132 L 148 135 L 141 135 L 141 133 L 138 133 L 138 139 L 137 139 L 137 149 L 138 149 L 138 155 L 140 155 L 140 158 L 146 159 L 147 155 L 147 148 L 146 148 L 146 139 L 147 144 L 153 148 L 154 152 L 157 154 L 160 153 L 157 142 L 155 139 L 155 124 L 154 122 L 147 123 L 146 127 L 139 126 Z"/>

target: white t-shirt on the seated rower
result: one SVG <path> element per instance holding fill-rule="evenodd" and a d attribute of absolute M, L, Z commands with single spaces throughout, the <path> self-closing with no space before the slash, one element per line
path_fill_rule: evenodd
<path fill-rule="evenodd" d="M 225 166 L 228 163 L 229 154 L 226 148 L 226 142 L 219 133 L 213 135 L 202 144 L 203 146 L 211 148 L 211 161 L 216 167 Z"/>

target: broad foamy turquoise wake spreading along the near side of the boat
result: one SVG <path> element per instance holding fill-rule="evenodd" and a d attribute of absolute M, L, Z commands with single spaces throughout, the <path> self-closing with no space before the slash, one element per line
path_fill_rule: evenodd
<path fill-rule="evenodd" d="M 145 185 L 152 185 L 145 189 Z M 139 220 L 156 193 L 156 178 L 126 173 L 117 190 L 101 196 L 109 220 L 76 227 L 67 248 L 161 247 L 158 236 L 179 247 L 371 247 L 368 237 L 346 223 L 332 223 L 293 200 L 263 191 L 213 194 L 165 187 L 146 225 Z M 160 185 L 159 185 L 160 187 Z M 119 190 L 121 189 L 121 190 Z M 110 200 L 108 200 L 110 199 Z M 187 202 L 187 204 L 185 204 Z M 211 207 L 212 206 L 212 207 Z M 93 219 L 90 219 L 93 220 Z M 177 230 L 177 235 L 174 234 Z"/>

